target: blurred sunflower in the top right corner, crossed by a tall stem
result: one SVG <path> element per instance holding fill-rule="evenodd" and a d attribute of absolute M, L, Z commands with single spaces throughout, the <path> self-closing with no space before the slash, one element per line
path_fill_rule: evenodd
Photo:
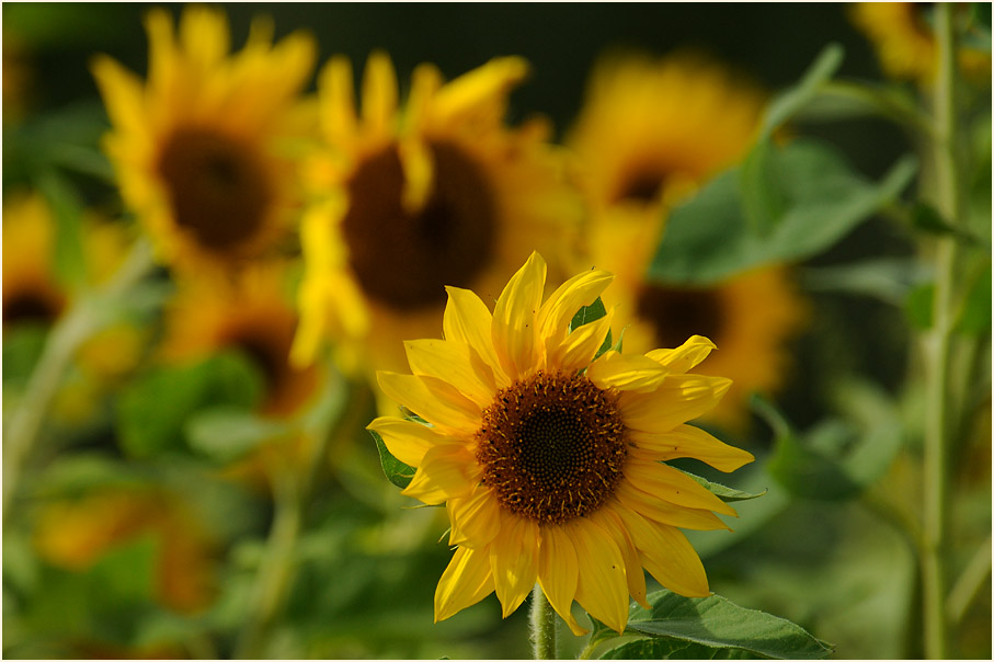
<path fill-rule="evenodd" d="M 849 16 L 876 46 L 888 76 L 930 83 L 938 66 L 930 10 L 924 2 L 855 2 Z M 958 57 L 968 77 L 990 83 L 990 52 L 963 46 Z"/>

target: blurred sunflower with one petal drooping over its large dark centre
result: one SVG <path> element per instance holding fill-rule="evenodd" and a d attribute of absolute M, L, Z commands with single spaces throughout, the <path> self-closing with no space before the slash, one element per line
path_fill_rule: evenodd
<path fill-rule="evenodd" d="M 400 109 L 393 66 L 375 53 L 357 115 L 350 62 L 327 65 L 327 150 L 308 168 L 296 361 L 312 361 L 330 336 L 346 369 L 370 378 L 375 367 L 400 369 L 402 340 L 437 328 L 445 285 L 494 296 L 536 248 L 559 269 L 579 201 L 546 123 L 503 124 L 526 73 L 524 60 L 505 57 L 443 83 L 421 65 Z"/>

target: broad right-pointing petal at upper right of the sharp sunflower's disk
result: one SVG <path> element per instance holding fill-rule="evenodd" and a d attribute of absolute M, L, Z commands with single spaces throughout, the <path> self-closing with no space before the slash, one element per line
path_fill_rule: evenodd
<path fill-rule="evenodd" d="M 667 432 L 712 409 L 732 380 L 706 375 L 670 375 L 653 392 L 621 393 L 625 424 L 631 430 Z"/>

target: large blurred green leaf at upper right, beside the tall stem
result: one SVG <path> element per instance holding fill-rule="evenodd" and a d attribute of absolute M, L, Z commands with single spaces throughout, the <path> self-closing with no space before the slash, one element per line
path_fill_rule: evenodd
<path fill-rule="evenodd" d="M 900 160 L 879 183 L 854 173 L 831 147 L 796 140 L 769 157 L 780 172 L 787 207 L 776 227 L 757 235 L 745 220 L 739 174 L 731 170 L 676 208 L 649 267 L 664 284 L 711 285 L 772 262 L 815 255 L 894 201 L 916 164 Z"/>

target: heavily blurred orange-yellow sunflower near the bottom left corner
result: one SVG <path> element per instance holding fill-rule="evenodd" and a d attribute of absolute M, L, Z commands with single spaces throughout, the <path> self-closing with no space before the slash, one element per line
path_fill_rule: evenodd
<path fill-rule="evenodd" d="M 38 513 L 33 540 L 47 562 L 83 571 L 112 548 L 144 535 L 159 545 L 160 603 L 181 613 L 207 607 L 215 594 L 213 544 L 187 506 L 161 490 L 106 487 L 47 502 Z"/>

